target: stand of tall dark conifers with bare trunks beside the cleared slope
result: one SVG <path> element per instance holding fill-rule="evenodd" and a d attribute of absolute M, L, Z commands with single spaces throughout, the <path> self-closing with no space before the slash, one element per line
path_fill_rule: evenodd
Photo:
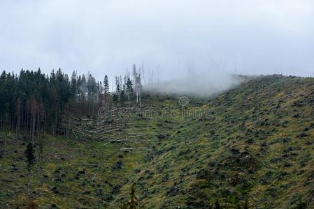
<path fill-rule="evenodd" d="M 45 75 L 38 70 L 3 71 L 0 75 L 0 131 L 8 130 L 34 140 L 49 132 L 62 134 L 62 120 L 69 116 L 95 117 L 99 107 L 141 102 L 141 73 L 115 77 L 110 89 L 108 76 L 97 81 L 92 74 L 71 77 L 59 70 Z"/>

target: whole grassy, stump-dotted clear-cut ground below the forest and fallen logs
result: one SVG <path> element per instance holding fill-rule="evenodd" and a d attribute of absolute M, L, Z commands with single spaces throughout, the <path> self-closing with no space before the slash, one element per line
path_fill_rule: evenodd
<path fill-rule="evenodd" d="M 36 205 L 118 208 L 134 185 L 140 208 L 314 207 L 314 79 L 256 77 L 210 100 L 179 98 L 146 95 L 158 116 L 130 118 L 138 144 L 45 134 L 31 171 Z M 26 142 L 0 140 L 0 202 L 24 207 Z M 145 149 L 121 150 L 134 146 Z"/>

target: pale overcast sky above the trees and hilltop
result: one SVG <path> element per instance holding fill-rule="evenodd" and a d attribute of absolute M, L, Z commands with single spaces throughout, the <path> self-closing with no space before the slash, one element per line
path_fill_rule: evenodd
<path fill-rule="evenodd" d="M 0 0 L 0 70 L 314 73 L 313 0 Z"/>

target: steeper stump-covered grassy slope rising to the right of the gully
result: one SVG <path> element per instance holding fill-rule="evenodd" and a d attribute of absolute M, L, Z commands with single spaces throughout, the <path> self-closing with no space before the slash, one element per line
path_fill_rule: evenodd
<path fill-rule="evenodd" d="M 313 208 L 313 102 L 314 79 L 280 75 L 209 100 L 210 116 L 158 140 L 113 203 L 134 185 L 145 208 Z"/>

